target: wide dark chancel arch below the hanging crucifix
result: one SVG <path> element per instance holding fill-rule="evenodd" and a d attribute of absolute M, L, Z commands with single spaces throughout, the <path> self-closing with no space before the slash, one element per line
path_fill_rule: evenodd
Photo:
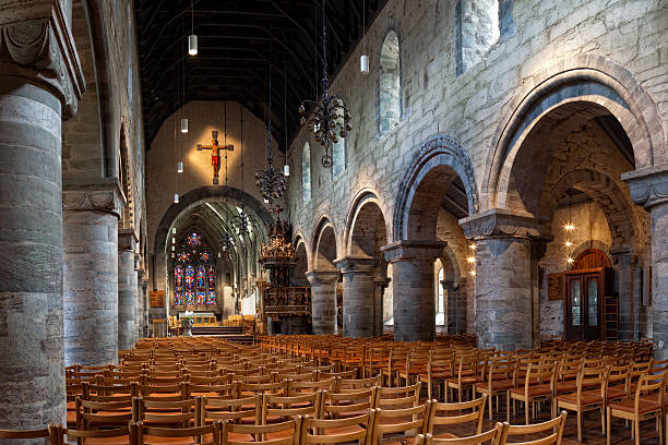
<path fill-rule="evenodd" d="M 258 215 L 261 221 L 264 222 L 265 227 L 269 227 L 272 222 L 272 217 L 266 207 L 247 192 L 227 185 L 201 187 L 180 196 L 179 202 L 171 204 L 163 214 L 153 240 L 153 253 L 165 252 L 169 238 L 169 228 L 181 213 L 203 202 L 211 201 L 212 199 L 227 199 L 231 203 L 239 205 L 241 202 L 243 202 L 246 204 L 246 208 L 251 209 L 255 215 Z"/>

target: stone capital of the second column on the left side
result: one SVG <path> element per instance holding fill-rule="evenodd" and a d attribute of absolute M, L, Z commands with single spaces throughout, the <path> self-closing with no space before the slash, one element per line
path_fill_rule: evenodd
<path fill-rule="evenodd" d="M 124 205 L 126 199 L 117 179 L 96 183 L 63 181 L 62 209 L 65 212 L 105 212 L 120 218 Z"/>

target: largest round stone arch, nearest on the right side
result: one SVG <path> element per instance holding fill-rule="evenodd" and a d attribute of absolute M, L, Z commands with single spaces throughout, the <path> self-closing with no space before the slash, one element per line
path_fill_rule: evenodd
<path fill-rule="evenodd" d="M 506 207 L 512 167 L 529 131 L 548 112 L 566 104 L 591 105 L 592 113 L 615 116 L 633 145 L 635 168 L 666 161 L 661 120 L 656 105 L 633 74 L 600 56 L 570 57 L 533 75 L 504 107 L 494 132 L 482 179 L 482 211 Z"/>

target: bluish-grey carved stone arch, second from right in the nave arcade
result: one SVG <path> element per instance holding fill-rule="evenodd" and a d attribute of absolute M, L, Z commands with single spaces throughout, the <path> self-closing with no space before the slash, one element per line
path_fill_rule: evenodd
<path fill-rule="evenodd" d="M 462 179 L 468 214 L 474 215 L 479 211 L 478 188 L 468 153 L 454 137 L 437 134 L 422 143 L 399 183 L 392 218 L 394 241 L 408 239 L 408 217 L 415 193 L 425 177 L 441 166 L 451 168 Z"/>

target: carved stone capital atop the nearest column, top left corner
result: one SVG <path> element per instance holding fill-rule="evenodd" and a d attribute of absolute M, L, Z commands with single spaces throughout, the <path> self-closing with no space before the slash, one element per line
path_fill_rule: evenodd
<path fill-rule="evenodd" d="M 86 83 L 70 29 L 71 11 L 62 3 L 62 0 L 10 0 L 9 5 L 3 5 L 0 71 L 51 91 L 68 119 L 76 113 Z"/>

